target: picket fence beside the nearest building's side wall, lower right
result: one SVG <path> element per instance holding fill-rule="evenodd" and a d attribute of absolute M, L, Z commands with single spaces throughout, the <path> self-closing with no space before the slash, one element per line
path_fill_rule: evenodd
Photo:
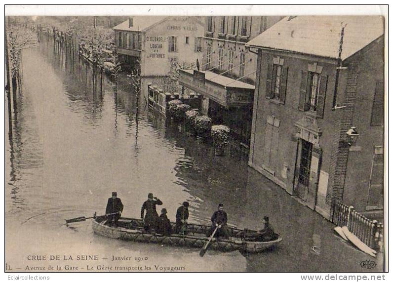
<path fill-rule="evenodd" d="M 381 248 L 383 245 L 383 224 L 377 220 L 368 219 L 358 213 L 353 206 L 333 201 L 331 222 L 337 226 L 347 226 L 352 234 L 371 248 Z"/>

